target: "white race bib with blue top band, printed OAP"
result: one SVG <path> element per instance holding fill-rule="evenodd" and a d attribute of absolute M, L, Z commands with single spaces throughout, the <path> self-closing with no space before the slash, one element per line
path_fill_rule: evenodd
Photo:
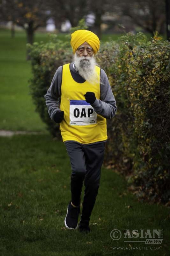
<path fill-rule="evenodd" d="M 85 100 L 70 100 L 70 125 L 97 123 L 97 113 Z"/>

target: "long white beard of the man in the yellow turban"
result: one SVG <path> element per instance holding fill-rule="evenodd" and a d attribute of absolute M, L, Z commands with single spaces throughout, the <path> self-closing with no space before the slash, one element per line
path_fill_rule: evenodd
<path fill-rule="evenodd" d="M 76 66 L 76 71 L 82 76 L 86 81 L 91 84 L 99 83 L 100 77 L 95 71 L 95 65 L 97 64 L 94 57 L 78 57 L 77 53 L 74 55 L 74 62 Z"/>

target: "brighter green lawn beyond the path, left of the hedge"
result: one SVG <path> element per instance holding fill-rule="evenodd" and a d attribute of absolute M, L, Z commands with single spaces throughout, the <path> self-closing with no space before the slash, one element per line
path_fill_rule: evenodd
<path fill-rule="evenodd" d="M 0 31 L 0 127 L 5 130 L 45 131 L 29 95 L 31 65 L 26 61 L 26 35 L 11 38 Z"/>

